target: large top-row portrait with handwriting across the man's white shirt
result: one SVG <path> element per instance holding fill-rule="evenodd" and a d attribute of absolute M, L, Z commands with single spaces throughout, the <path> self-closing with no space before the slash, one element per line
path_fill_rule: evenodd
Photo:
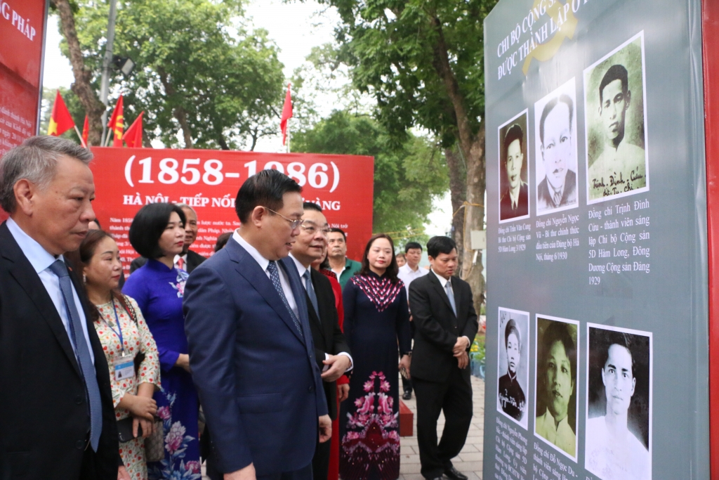
<path fill-rule="evenodd" d="M 644 32 L 585 70 L 587 203 L 649 190 Z"/>

